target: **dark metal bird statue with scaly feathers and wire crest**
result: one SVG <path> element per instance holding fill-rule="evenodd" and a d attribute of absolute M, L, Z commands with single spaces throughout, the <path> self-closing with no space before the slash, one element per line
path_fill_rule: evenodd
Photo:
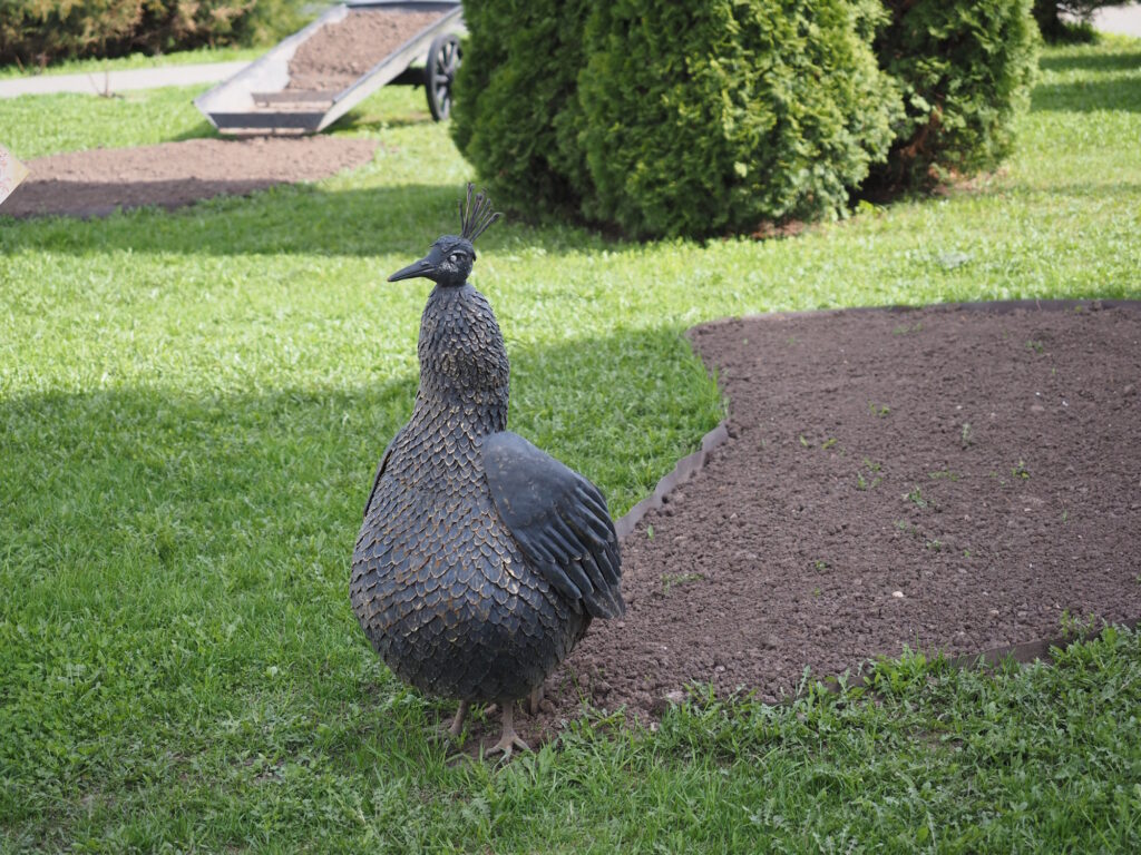
<path fill-rule="evenodd" d="M 625 611 L 618 543 L 590 481 L 507 430 L 509 366 L 486 298 L 469 283 L 475 239 L 499 219 L 484 194 L 461 230 L 389 282 L 436 286 L 420 320 L 412 417 L 377 467 L 353 554 L 349 596 L 385 662 L 421 691 L 495 701 L 502 738 L 527 749 L 515 701 L 537 708 L 545 677 L 592 618 Z"/>

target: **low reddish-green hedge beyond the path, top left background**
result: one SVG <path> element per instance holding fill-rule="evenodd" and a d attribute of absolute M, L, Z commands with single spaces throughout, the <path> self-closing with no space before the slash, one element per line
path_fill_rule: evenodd
<path fill-rule="evenodd" d="M 251 44 L 301 23 L 300 0 L 0 0 L 0 64 Z"/>

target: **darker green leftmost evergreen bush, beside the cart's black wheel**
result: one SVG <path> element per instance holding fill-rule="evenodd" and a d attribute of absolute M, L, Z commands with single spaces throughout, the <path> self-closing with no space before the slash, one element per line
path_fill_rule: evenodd
<path fill-rule="evenodd" d="M 540 218 L 578 209 L 576 78 L 590 5 L 470 2 L 452 136 L 499 204 Z"/>

